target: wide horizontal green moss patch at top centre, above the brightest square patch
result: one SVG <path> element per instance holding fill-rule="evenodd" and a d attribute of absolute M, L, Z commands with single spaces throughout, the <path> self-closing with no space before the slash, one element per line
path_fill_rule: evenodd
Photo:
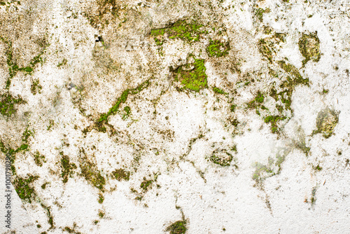
<path fill-rule="evenodd" d="M 167 33 L 169 39 L 182 39 L 186 41 L 199 41 L 200 35 L 204 32 L 200 31 L 202 25 L 197 24 L 197 22 L 187 23 L 186 20 L 179 20 L 169 27 L 162 29 L 152 29 L 151 36 L 156 36 L 160 38 L 158 43 L 162 43 L 163 36 Z"/>

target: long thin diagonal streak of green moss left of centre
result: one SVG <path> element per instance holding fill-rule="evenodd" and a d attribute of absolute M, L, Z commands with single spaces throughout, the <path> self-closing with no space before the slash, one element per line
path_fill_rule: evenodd
<path fill-rule="evenodd" d="M 144 90 L 145 88 L 148 88 L 148 86 L 151 84 L 150 80 L 148 79 L 147 81 L 145 81 L 144 83 L 141 83 L 139 86 L 137 86 L 137 88 L 134 88 L 132 90 L 127 89 L 124 90 L 124 92 L 122 93 L 122 95 L 120 95 L 120 97 L 118 97 L 116 104 L 114 104 L 111 109 L 109 109 L 109 112 L 107 113 L 102 113 L 102 115 L 100 116 L 98 122 L 104 122 L 107 121 L 107 119 L 109 118 L 109 116 L 111 115 L 115 115 L 118 112 L 119 106 L 120 104 L 124 103 L 127 101 L 127 96 L 128 95 L 136 95 L 137 93 L 141 92 L 141 90 Z M 130 111 L 130 109 L 129 109 Z"/>

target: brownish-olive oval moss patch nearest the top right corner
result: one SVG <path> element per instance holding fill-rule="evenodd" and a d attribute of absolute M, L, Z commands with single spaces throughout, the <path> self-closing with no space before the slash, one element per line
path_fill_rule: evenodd
<path fill-rule="evenodd" d="M 302 37 L 299 39 L 299 50 L 304 56 L 302 64 L 306 64 L 309 60 L 318 62 L 321 58 L 320 53 L 320 39 L 318 39 L 317 32 L 311 34 L 302 34 Z"/>

